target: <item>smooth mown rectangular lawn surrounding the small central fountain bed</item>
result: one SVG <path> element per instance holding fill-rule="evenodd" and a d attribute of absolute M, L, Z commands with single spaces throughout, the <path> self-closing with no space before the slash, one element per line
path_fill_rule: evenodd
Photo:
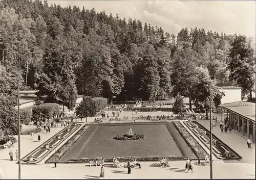
<path fill-rule="evenodd" d="M 145 135 L 145 139 L 138 141 L 119 141 L 113 139 L 115 136 L 126 133 L 129 129 L 135 133 Z M 174 127 L 175 128 L 175 127 Z M 166 123 L 144 123 L 144 124 L 102 124 L 93 125 L 82 135 L 82 137 L 69 149 L 60 159 L 60 163 L 70 159 L 82 158 L 112 158 L 115 157 L 148 157 L 148 156 L 193 156 L 195 153 L 188 146 L 185 153 L 181 152 L 174 138 L 170 135 Z M 173 133 L 178 133 L 173 131 Z M 179 133 L 176 138 L 182 138 Z M 184 142 L 183 142 L 184 143 Z"/>

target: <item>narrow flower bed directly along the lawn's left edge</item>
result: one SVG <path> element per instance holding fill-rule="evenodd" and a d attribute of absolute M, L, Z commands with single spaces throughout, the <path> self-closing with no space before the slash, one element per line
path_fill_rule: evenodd
<path fill-rule="evenodd" d="M 87 128 L 86 128 L 87 127 Z M 82 127 L 69 141 L 67 141 L 62 147 L 56 152 L 56 162 L 58 162 L 65 153 L 76 143 L 76 141 L 88 130 L 88 126 Z M 54 163 L 54 154 L 46 161 L 46 163 Z"/>

